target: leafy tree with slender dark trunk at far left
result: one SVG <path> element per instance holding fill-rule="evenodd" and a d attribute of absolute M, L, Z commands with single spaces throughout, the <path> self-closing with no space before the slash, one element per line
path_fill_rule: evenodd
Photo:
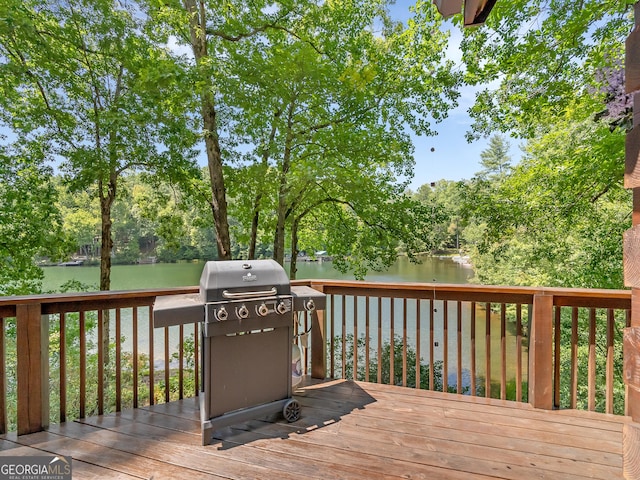
<path fill-rule="evenodd" d="M 183 70 L 145 34 L 135 5 L 11 0 L 1 8 L 2 119 L 51 145 L 70 188 L 97 195 L 100 289 L 108 290 L 122 174 L 176 179 L 194 165 Z"/>

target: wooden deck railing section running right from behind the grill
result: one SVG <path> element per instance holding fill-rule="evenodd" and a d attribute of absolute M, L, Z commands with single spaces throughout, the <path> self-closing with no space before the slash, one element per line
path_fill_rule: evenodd
<path fill-rule="evenodd" d="M 329 296 L 331 377 L 625 413 L 629 291 L 308 284 Z"/>

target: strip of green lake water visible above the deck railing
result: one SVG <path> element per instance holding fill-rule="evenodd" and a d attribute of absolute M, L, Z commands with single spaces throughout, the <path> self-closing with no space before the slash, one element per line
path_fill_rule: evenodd
<path fill-rule="evenodd" d="M 157 263 L 153 265 L 115 265 L 111 271 L 112 290 L 138 290 L 147 288 L 197 286 L 200 282 L 203 262 Z M 288 270 L 289 265 L 285 264 Z M 351 274 L 341 274 L 331 262 L 298 263 L 298 279 L 349 279 Z M 366 280 L 372 282 L 438 282 L 468 283 L 473 270 L 451 259 L 422 257 L 421 263 L 411 263 L 406 257 L 385 272 L 371 272 Z M 57 291 L 61 285 L 76 280 L 98 289 L 99 267 L 45 267 L 42 289 Z"/>

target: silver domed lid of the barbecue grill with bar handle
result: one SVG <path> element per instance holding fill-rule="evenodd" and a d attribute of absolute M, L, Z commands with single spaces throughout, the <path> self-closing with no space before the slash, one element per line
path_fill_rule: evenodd
<path fill-rule="evenodd" d="M 289 277 L 275 260 L 207 262 L 200 277 L 204 303 L 290 294 Z"/>

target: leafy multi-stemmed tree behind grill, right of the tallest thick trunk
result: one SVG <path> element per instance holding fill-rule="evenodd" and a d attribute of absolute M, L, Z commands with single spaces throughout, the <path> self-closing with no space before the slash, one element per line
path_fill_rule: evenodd
<path fill-rule="evenodd" d="M 235 74 L 221 83 L 220 97 L 238 106 L 229 117 L 235 142 L 255 146 L 242 157 L 243 174 L 228 177 L 231 211 L 247 226 L 243 235 L 250 238 L 250 255 L 261 221 L 274 229 L 276 261 L 283 262 L 289 242 L 292 276 L 305 219 L 338 222 L 341 217 L 320 210 L 358 203 L 361 213 L 380 212 L 376 220 L 360 217 L 358 228 L 384 230 L 388 204 L 411 203 L 395 191 L 398 176 L 410 175 L 413 165 L 406 129 L 432 134 L 428 119 L 441 118 L 456 96 L 456 75 L 443 60 L 445 36 L 430 31 L 427 38 L 424 31 L 437 23 L 432 6 L 416 7 L 420 22 L 406 29 L 386 17 L 385 6 L 383 1 L 328 2 L 305 10 L 305 27 L 295 35 L 268 29 L 261 42 L 228 46 L 227 65 Z M 376 22 L 383 27 L 374 32 Z M 361 28 L 367 24 L 371 31 Z M 387 183 L 395 185 L 387 189 Z M 363 185 L 377 190 L 363 190 Z M 358 196 L 375 203 L 364 209 L 354 202 Z M 261 217 L 272 209 L 273 217 Z M 325 224 L 340 231 L 334 227 Z M 411 243 L 406 235 L 403 240 L 405 246 Z M 373 252 L 352 246 L 332 253 Z"/>

